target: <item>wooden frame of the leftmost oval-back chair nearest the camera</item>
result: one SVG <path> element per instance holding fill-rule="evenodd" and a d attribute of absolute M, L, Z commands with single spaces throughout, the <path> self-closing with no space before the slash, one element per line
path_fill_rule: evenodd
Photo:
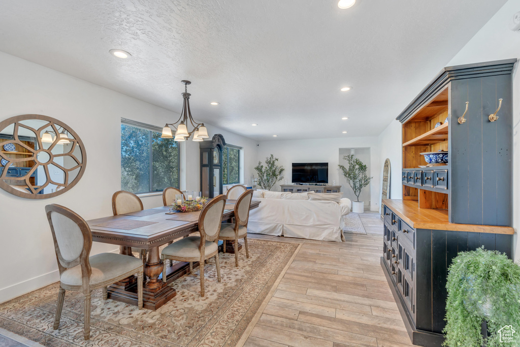
<path fill-rule="evenodd" d="M 89 262 L 89 254 L 90 249 L 92 249 L 92 233 L 90 232 L 90 228 L 88 227 L 87 222 L 77 213 L 74 211 L 63 207 L 58 204 L 50 204 L 45 207 L 45 212 L 47 214 L 47 220 L 50 225 L 50 231 L 53 234 L 53 241 L 54 241 L 54 249 L 56 251 L 56 259 L 58 261 L 58 269 L 60 272 L 60 276 L 63 272 L 65 272 L 67 269 L 80 265 L 81 266 L 81 274 L 82 274 L 82 284 L 80 286 L 75 285 L 67 285 L 60 281 L 60 289 L 58 292 L 58 303 L 56 305 L 56 314 L 54 317 L 54 329 L 58 329 L 60 325 L 60 318 L 61 318 L 61 311 L 63 309 L 63 301 L 65 299 L 65 291 L 66 290 L 73 290 L 73 291 L 82 291 L 83 297 L 85 299 L 84 306 L 83 306 L 83 312 L 84 312 L 84 332 L 83 336 L 85 340 L 88 340 L 90 338 L 90 293 L 94 289 L 103 288 L 103 299 L 107 299 L 107 287 L 117 281 L 120 281 L 128 276 L 132 276 L 134 274 L 137 274 L 137 296 L 138 296 L 138 307 L 139 310 L 142 309 L 142 279 L 143 279 L 143 267 L 139 269 L 139 271 L 136 273 L 135 271 L 130 271 L 126 273 L 122 273 L 121 275 L 111 278 L 109 280 L 106 280 L 105 282 L 101 282 L 100 284 L 97 284 L 96 286 L 90 285 L 90 276 L 92 275 L 92 268 L 90 267 Z M 53 221 L 51 219 L 51 214 L 59 213 L 70 220 L 72 220 L 74 223 L 77 224 L 77 226 L 80 228 L 81 233 L 83 235 L 83 249 L 80 253 L 80 255 L 73 260 L 65 260 L 63 259 L 63 256 L 61 255 L 60 248 L 58 246 L 58 241 L 56 239 L 56 233 L 54 230 Z M 123 255 L 122 255 L 123 256 Z"/>

